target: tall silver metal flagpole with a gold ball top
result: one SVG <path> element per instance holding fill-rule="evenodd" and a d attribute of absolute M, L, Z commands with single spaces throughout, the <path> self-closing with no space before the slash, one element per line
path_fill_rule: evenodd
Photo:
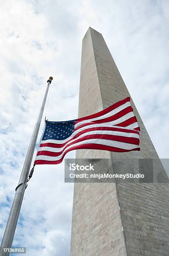
<path fill-rule="evenodd" d="M 29 148 L 27 150 L 25 163 L 24 163 L 23 168 L 22 168 L 22 173 L 20 175 L 19 184 L 22 183 L 22 185 L 17 187 L 16 193 L 15 193 L 15 197 L 14 197 L 12 207 L 11 207 L 11 210 L 10 210 L 10 215 L 9 215 L 7 225 L 6 225 L 6 228 L 5 228 L 5 233 L 4 233 L 4 236 L 2 238 L 2 243 L 1 243 L 1 246 L 0 246 L 1 247 L 0 256 L 9 255 L 9 253 L 3 252 L 2 248 L 11 248 L 11 246 L 12 246 L 12 241 L 13 241 L 13 237 L 14 237 L 14 234 L 15 234 L 17 220 L 18 220 L 18 217 L 19 217 L 20 208 L 21 208 L 21 205 L 22 205 L 22 200 L 23 200 L 23 196 L 24 196 L 24 192 L 25 192 L 25 188 L 26 188 L 26 181 L 27 181 L 28 174 L 29 174 L 29 171 L 30 171 L 30 165 L 31 165 L 31 162 L 32 162 L 32 157 L 33 157 L 33 153 L 34 153 L 34 149 L 35 149 L 35 144 L 36 144 L 36 141 L 37 141 L 37 135 L 38 135 L 38 132 L 39 132 L 40 123 L 41 123 L 43 111 L 44 111 L 44 108 L 45 108 L 47 93 L 48 93 L 48 90 L 49 90 L 49 87 L 50 87 L 50 84 L 51 84 L 52 80 L 53 80 L 52 77 L 50 77 L 47 80 L 46 92 L 45 92 L 45 95 L 44 95 L 44 98 L 43 98 L 43 102 L 42 102 L 42 105 L 41 105 L 41 108 L 40 108 L 39 115 L 37 117 L 35 128 L 34 128 L 33 133 L 32 133 L 32 138 L 30 140 L 30 145 L 29 145 Z"/>

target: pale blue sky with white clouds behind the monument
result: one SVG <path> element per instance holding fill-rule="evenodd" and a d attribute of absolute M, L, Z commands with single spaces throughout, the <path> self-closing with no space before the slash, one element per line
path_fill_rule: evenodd
<path fill-rule="evenodd" d="M 169 158 L 168 0 L 2 0 L 1 8 L 0 240 L 48 77 L 54 79 L 37 145 L 45 114 L 77 118 L 89 26 L 102 33 L 159 157 Z M 70 255 L 72 200 L 64 162 L 36 166 L 12 245 L 26 247 L 27 256 Z"/>

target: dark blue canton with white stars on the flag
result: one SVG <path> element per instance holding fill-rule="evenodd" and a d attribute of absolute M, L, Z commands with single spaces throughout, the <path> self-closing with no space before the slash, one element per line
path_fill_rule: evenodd
<path fill-rule="evenodd" d="M 42 140 L 65 140 L 69 138 L 75 129 L 75 121 L 51 122 L 46 121 Z"/>

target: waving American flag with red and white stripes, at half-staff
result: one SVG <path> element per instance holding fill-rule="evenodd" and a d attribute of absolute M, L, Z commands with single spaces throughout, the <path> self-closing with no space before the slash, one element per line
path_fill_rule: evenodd
<path fill-rule="evenodd" d="M 59 164 L 67 152 L 75 149 L 140 150 L 139 133 L 130 97 L 84 118 L 45 121 L 35 164 Z"/>

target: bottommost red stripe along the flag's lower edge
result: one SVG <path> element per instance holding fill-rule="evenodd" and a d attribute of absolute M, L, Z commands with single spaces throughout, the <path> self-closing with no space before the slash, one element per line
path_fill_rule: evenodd
<path fill-rule="evenodd" d="M 35 160 L 35 164 L 60 164 L 64 158 L 64 156 L 72 150 L 75 149 L 98 149 L 98 150 L 107 150 L 107 151 L 113 151 L 113 152 L 129 152 L 129 151 L 140 151 L 140 148 L 133 148 L 133 149 L 122 149 L 122 148 L 116 148 L 112 146 L 105 146 L 102 144 L 83 144 L 74 146 L 72 148 L 67 149 L 65 153 L 63 154 L 62 158 L 55 161 L 47 161 L 47 160 Z"/>

